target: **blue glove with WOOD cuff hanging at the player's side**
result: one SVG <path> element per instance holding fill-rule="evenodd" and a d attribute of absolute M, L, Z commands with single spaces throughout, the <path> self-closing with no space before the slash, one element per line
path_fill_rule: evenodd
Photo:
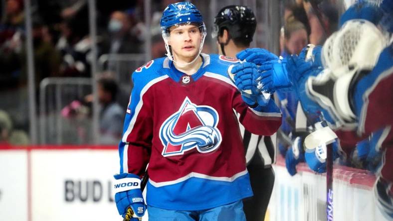
<path fill-rule="evenodd" d="M 116 179 L 115 201 L 119 214 L 124 218 L 127 208 L 131 207 L 134 212 L 134 218 L 131 221 L 138 221 L 138 218 L 142 218 L 146 211 L 141 191 L 141 179 L 131 173 L 116 174 L 114 177 Z"/>

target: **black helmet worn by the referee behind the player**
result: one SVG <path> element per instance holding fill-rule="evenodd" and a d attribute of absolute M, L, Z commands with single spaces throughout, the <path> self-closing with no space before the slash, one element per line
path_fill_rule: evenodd
<path fill-rule="evenodd" d="M 223 7 L 214 18 L 211 36 L 217 37 L 223 28 L 228 30 L 230 38 L 243 38 L 251 42 L 256 28 L 254 12 L 242 5 Z"/>

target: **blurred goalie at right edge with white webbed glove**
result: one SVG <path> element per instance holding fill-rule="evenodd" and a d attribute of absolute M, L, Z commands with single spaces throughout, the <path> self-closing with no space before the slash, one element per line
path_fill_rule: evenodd
<path fill-rule="evenodd" d="M 373 45 L 372 50 L 368 45 Z M 329 126 L 335 129 L 341 144 L 355 146 L 373 132 L 379 133 L 383 161 L 374 190 L 378 206 L 392 219 L 393 100 L 386 96 L 393 92 L 393 45 L 384 47 L 385 37 L 373 23 L 349 20 L 326 41 L 322 55 L 326 69 L 323 72 L 295 55 L 288 59 L 286 76 L 291 79 L 303 109 L 322 113 Z M 277 69 L 273 75 L 282 73 Z M 273 78 L 278 79 L 277 76 Z M 306 156 L 306 161 L 313 170 L 318 170 L 323 162 L 315 156 Z"/>

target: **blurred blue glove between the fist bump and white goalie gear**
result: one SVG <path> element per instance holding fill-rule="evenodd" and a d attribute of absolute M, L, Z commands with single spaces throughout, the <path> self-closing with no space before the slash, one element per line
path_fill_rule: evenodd
<path fill-rule="evenodd" d="M 308 97 L 306 82 L 310 76 L 317 76 L 320 69 L 315 69 L 311 61 L 306 62 L 297 55 L 287 58 L 286 68 L 294 87 L 296 98 L 300 100 L 303 110 L 311 114 L 318 114 L 322 108 Z"/>

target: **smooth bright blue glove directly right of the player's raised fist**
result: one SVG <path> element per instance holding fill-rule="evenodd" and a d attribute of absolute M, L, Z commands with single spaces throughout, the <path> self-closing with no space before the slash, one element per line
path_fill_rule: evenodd
<path fill-rule="evenodd" d="M 271 60 L 258 67 L 261 73 L 262 89 L 273 93 L 277 89 L 282 92 L 292 91 L 292 83 L 288 78 L 286 59 Z"/>

